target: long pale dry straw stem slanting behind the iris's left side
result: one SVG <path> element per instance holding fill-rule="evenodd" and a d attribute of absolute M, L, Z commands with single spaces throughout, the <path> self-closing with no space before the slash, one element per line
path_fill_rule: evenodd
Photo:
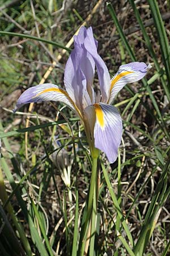
<path fill-rule="evenodd" d="M 87 25 L 87 22 L 89 22 L 92 18 L 92 15 L 94 15 L 97 11 L 97 9 L 100 7 L 101 3 L 103 3 L 103 0 L 99 0 L 94 9 L 92 9 L 91 13 L 87 16 L 87 18 L 84 20 L 84 22 L 82 23 L 82 26 L 86 26 Z M 80 27 L 78 28 L 78 30 L 75 32 L 74 35 L 77 35 L 79 30 L 80 30 Z M 69 42 L 66 44 L 66 47 L 69 48 L 74 42 L 74 38 L 72 37 Z M 40 81 L 40 84 L 44 84 L 45 80 L 49 77 L 50 73 L 53 71 L 53 68 L 55 67 L 55 65 L 62 59 L 62 56 L 66 53 L 66 49 L 62 49 L 62 52 L 57 56 L 57 60 L 53 61 L 53 65 L 50 66 L 48 68 L 48 70 L 45 72 L 44 76 L 42 77 L 41 81 Z M 28 112 L 31 112 L 32 111 L 32 108 L 33 108 L 33 103 L 31 103 L 29 105 L 29 109 L 28 109 Z M 27 121 L 26 121 L 26 125 L 25 127 L 27 128 L 29 126 L 29 119 L 30 117 L 27 118 Z M 25 158 L 28 159 L 28 147 L 27 147 L 27 142 L 28 142 L 28 133 L 26 132 L 25 133 Z"/>

